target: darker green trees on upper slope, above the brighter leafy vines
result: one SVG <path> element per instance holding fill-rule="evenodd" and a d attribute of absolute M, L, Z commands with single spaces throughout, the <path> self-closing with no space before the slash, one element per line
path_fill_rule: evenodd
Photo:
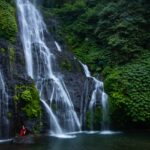
<path fill-rule="evenodd" d="M 62 21 L 58 33 L 92 72 L 99 73 L 107 65 L 132 61 L 149 48 L 147 7 L 143 1 L 77 0 L 53 12 Z"/>

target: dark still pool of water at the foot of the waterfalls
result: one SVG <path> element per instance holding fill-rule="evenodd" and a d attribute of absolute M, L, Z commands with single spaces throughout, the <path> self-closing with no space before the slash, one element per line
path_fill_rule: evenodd
<path fill-rule="evenodd" d="M 33 144 L 0 143 L 0 150 L 150 150 L 150 132 L 43 135 L 34 137 Z"/>

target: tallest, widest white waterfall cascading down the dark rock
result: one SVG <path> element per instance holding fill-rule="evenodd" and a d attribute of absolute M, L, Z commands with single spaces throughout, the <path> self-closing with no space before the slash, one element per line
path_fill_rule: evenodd
<path fill-rule="evenodd" d="M 16 2 L 26 70 L 40 93 L 41 102 L 50 118 L 50 130 L 54 134 L 79 131 L 80 122 L 69 92 L 62 75 L 54 68 L 57 64 L 55 55 L 45 41 L 47 29 L 43 18 L 29 0 Z M 61 51 L 56 41 L 53 44 Z"/>

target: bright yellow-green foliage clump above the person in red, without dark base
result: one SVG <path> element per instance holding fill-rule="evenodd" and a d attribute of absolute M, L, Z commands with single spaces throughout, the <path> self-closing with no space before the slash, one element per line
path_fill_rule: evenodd
<path fill-rule="evenodd" d="M 14 101 L 19 112 L 24 112 L 29 118 L 38 118 L 41 115 L 41 106 L 38 91 L 34 85 L 19 85 L 15 88 Z"/>

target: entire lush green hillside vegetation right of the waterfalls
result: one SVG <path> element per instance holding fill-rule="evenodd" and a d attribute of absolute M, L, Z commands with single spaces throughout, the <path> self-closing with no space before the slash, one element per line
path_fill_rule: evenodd
<path fill-rule="evenodd" d="M 74 0 L 55 1 L 53 7 L 48 11 L 60 20 L 56 34 L 93 74 L 104 78 L 112 125 L 148 127 L 150 2 Z"/>

